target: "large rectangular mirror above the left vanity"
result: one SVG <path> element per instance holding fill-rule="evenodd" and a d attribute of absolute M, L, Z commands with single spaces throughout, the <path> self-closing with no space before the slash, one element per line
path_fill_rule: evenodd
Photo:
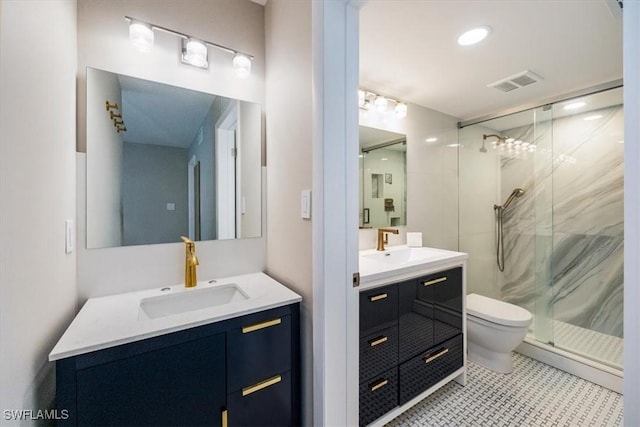
<path fill-rule="evenodd" d="M 87 248 L 260 237 L 260 105 L 87 69 Z"/>

